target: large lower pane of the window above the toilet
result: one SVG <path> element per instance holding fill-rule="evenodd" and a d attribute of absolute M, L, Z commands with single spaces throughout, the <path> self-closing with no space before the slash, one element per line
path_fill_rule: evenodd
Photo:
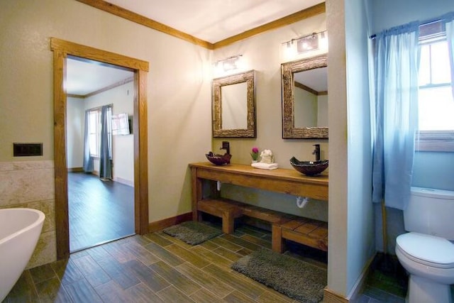
<path fill-rule="evenodd" d="M 454 129 L 454 100 L 451 87 L 419 90 L 419 129 L 448 131 Z"/>

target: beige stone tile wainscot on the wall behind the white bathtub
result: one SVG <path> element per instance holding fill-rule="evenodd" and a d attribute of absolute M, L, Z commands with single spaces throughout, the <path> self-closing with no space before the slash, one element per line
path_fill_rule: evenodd
<path fill-rule="evenodd" d="M 45 214 L 43 231 L 27 268 L 57 259 L 54 162 L 0 162 L 0 209 L 26 207 Z"/>

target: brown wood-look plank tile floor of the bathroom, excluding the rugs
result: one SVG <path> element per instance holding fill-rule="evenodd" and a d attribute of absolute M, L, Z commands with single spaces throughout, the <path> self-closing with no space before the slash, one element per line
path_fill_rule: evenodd
<path fill-rule="evenodd" d="M 288 246 L 287 255 L 326 269 L 326 253 Z M 231 270 L 234 261 L 260 247 L 271 248 L 271 233 L 247 225 L 197 246 L 161 231 L 131 236 L 25 270 L 3 303 L 297 302 Z M 404 302 L 396 286 L 374 274 L 355 302 Z"/>

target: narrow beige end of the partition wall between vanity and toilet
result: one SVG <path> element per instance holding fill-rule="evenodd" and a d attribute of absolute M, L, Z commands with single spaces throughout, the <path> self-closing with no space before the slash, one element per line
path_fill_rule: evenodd
<path fill-rule="evenodd" d="M 348 161 L 347 161 L 347 87 L 345 79 L 345 11 L 344 1 L 326 2 L 329 31 L 328 53 L 328 94 L 336 96 L 336 102 L 329 104 L 328 121 L 331 166 L 328 208 L 328 287 L 346 296 L 348 251 Z M 329 99 L 329 97 L 328 97 Z"/>

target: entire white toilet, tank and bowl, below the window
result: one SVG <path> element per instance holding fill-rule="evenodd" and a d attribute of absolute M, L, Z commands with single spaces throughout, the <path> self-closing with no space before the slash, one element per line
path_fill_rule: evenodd
<path fill-rule="evenodd" d="M 410 303 L 451 303 L 454 284 L 454 192 L 411 187 L 396 255 L 409 272 Z"/>

